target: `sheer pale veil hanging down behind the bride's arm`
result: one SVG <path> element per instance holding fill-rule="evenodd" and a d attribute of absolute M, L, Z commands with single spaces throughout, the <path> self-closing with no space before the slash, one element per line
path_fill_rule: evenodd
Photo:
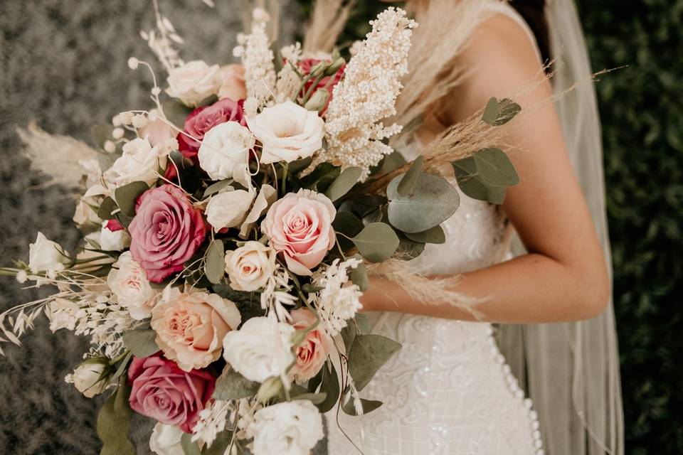
<path fill-rule="evenodd" d="M 574 171 L 610 265 L 600 119 L 573 0 L 546 4 L 556 109 Z M 524 248 L 518 243 L 515 253 Z M 612 301 L 590 321 L 501 326 L 499 344 L 539 412 L 551 455 L 623 455 L 623 409 Z"/>

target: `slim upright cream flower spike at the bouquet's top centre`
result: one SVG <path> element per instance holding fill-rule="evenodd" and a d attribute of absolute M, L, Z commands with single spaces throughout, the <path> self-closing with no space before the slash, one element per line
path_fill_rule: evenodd
<path fill-rule="evenodd" d="M 233 50 L 235 57 L 241 58 L 244 65 L 247 95 L 255 98 L 259 108 L 267 106 L 275 93 L 275 65 L 266 33 L 268 20 L 263 9 L 254 9 L 251 33 L 238 35 L 239 45 Z"/>

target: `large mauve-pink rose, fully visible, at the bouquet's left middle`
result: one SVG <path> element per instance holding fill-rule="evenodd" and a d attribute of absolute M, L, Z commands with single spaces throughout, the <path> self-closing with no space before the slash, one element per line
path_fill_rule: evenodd
<path fill-rule="evenodd" d="M 128 230 L 130 253 L 154 283 L 180 272 L 206 235 L 201 211 L 173 185 L 145 191 Z"/>

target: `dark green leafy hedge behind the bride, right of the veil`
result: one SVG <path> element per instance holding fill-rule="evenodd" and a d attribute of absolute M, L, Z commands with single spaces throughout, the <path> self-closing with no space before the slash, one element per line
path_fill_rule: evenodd
<path fill-rule="evenodd" d="M 310 1 L 300 1 L 305 13 Z M 364 36 L 386 4 L 362 1 Z M 579 0 L 605 141 L 627 454 L 683 453 L 683 0 Z"/>

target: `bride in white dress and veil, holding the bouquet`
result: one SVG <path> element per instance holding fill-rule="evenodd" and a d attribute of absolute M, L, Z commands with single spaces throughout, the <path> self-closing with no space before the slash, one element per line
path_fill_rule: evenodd
<path fill-rule="evenodd" d="M 374 333 L 403 348 L 363 392 L 382 407 L 359 420 L 328 414 L 332 455 L 623 454 L 593 88 L 580 84 L 547 102 L 591 71 L 571 0 L 547 3 L 544 21 L 542 0 L 408 2 L 420 23 L 411 77 L 449 89 L 425 109 L 414 153 L 489 97 L 518 94 L 526 114 L 504 141 L 517 146 L 521 183 L 500 208 L 461 195 L 443 225 L 445 244 L 414 261 L 430 275 L 462 274 L 453 290 L 481 300 L 479 320 L 374 279 L 364 311 Z M 552 84 L 530 86 L 548 57 L 559 58 Z M 438 90 L 427 92 L 420 96 Z M 508 360 L 492 323 L 502 324 Z"/>

